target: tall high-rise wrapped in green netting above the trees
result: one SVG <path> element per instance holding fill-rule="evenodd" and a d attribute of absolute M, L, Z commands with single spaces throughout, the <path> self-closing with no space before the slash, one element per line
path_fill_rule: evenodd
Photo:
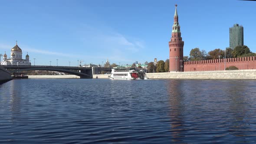
<path fill-rule="evenodd" d="M 243 26 L 238 24 L 230 27 L 230 48 L 234 49 L 236 46 L 243 46 Z"/>

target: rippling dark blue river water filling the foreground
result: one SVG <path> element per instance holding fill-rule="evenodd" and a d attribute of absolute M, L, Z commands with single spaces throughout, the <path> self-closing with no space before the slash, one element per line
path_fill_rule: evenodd
<path fill-rule="evenodd" d="M 256 81 L 12 80 L 0 143 L 255 144 Z"/>

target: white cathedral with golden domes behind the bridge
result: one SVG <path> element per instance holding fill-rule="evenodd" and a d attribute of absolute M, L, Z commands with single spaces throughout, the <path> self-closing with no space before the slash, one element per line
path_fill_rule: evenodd
<path fill-rule="evenodd" d="M 17 45 L 16 41 L 16 45 L 11 49 L 11 57 L 7 59 L 7 54 L 5 52 L 1 65 L 31 65 L 30 56 L 27 54 L 26 59 L 22 59 L 22 50 Z"/>

